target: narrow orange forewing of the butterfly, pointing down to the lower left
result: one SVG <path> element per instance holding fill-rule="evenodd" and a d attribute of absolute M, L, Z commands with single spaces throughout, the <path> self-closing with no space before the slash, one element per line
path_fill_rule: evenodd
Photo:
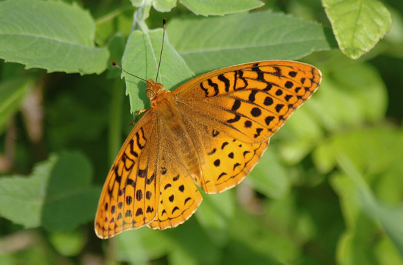
<path fill-rule="evenodd" d="M 95 233 L 106 239 L 154 220 L 159 200 L 158 139 L 152 112 L 138 121 L 125 140 L 103 186 Z"/>

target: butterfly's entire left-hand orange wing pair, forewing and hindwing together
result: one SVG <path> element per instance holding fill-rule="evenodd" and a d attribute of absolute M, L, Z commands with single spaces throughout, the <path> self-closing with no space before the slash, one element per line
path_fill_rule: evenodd
<path fill-rule="evenodd" d="M 185 222 L 202 197 L 189 173 L 173 163 L 163 124 L 148 111 L 132 129 L 107 176 L 95 218 L 106 239 L 130 229 L 165 229 Z"/>

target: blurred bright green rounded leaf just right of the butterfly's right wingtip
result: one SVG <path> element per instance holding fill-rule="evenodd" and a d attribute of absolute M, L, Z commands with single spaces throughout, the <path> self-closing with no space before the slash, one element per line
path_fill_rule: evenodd
<path fill-rule="evenodd" d="M 308 103 L 322 126 L 334 131 L 347 125 L 375 123 L 384 117 L 386 86 L 374 67 L 366 63 L 338 65 L 323 76 L 326 78 Z"/>

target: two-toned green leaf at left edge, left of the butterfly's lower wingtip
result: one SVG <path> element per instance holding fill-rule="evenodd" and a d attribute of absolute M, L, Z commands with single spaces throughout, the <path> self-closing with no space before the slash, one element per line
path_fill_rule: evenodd
<path fill-rule="evenodd" d="M 90 187 L 91 178 L 80 153 L 54 154 L 31 176 L 0 179 L 0 215 L 25 228 L 72 230 L 94 218 L 101 189 Z"/>

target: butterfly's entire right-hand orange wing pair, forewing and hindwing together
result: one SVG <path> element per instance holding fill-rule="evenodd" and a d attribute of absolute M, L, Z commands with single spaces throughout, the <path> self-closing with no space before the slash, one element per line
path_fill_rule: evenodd
<path fill-rule="evenodd" d="M 262 61 L 216 70 L 174 90 L 187 127 L 205 148 L 198 184 L 216 193 L 245 178 L 269 138 L 318 89 L 321 78 L 311 65 Z"/>

